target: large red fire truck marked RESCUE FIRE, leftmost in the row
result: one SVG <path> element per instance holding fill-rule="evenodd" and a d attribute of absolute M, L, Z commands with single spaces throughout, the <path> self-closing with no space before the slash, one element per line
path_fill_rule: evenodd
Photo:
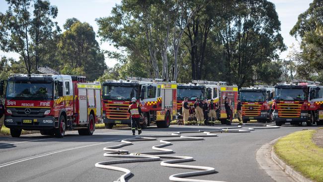
<path fill-rule="evenodd" d="M 60 138 L 66 130 L 92 135 L 101 116 L 101 86 L 85 82 L 82 76 L 11 75 L 6 84 L 4 125 L 12 137 L 19 137 L 22 129 Z M 1 82 L 1 94 L 3 87 Z"/>

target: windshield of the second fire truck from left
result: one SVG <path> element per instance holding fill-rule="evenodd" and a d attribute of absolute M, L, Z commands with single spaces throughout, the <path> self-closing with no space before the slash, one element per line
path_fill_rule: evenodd
<path fill-rule="evenodd" d="M 138 98 L 137 87 L 103 86 L 103 99 L 131 100 L 132 97 Z"/>

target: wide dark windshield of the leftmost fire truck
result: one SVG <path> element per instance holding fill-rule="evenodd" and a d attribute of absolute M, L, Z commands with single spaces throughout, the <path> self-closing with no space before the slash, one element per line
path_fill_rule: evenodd
<path fill-rule="evenodd" d="M 6 99 L 51 100 L 53 99 L 53 84 L 29 81 L 9 81 L 7 85 Z"/>

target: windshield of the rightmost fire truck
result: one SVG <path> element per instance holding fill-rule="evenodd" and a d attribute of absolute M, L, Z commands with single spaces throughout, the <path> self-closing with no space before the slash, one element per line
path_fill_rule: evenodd
<path fill-rule="evenodd" d="M 306 89 L 277 88 L 276 100 L 307 100 Z"/>

